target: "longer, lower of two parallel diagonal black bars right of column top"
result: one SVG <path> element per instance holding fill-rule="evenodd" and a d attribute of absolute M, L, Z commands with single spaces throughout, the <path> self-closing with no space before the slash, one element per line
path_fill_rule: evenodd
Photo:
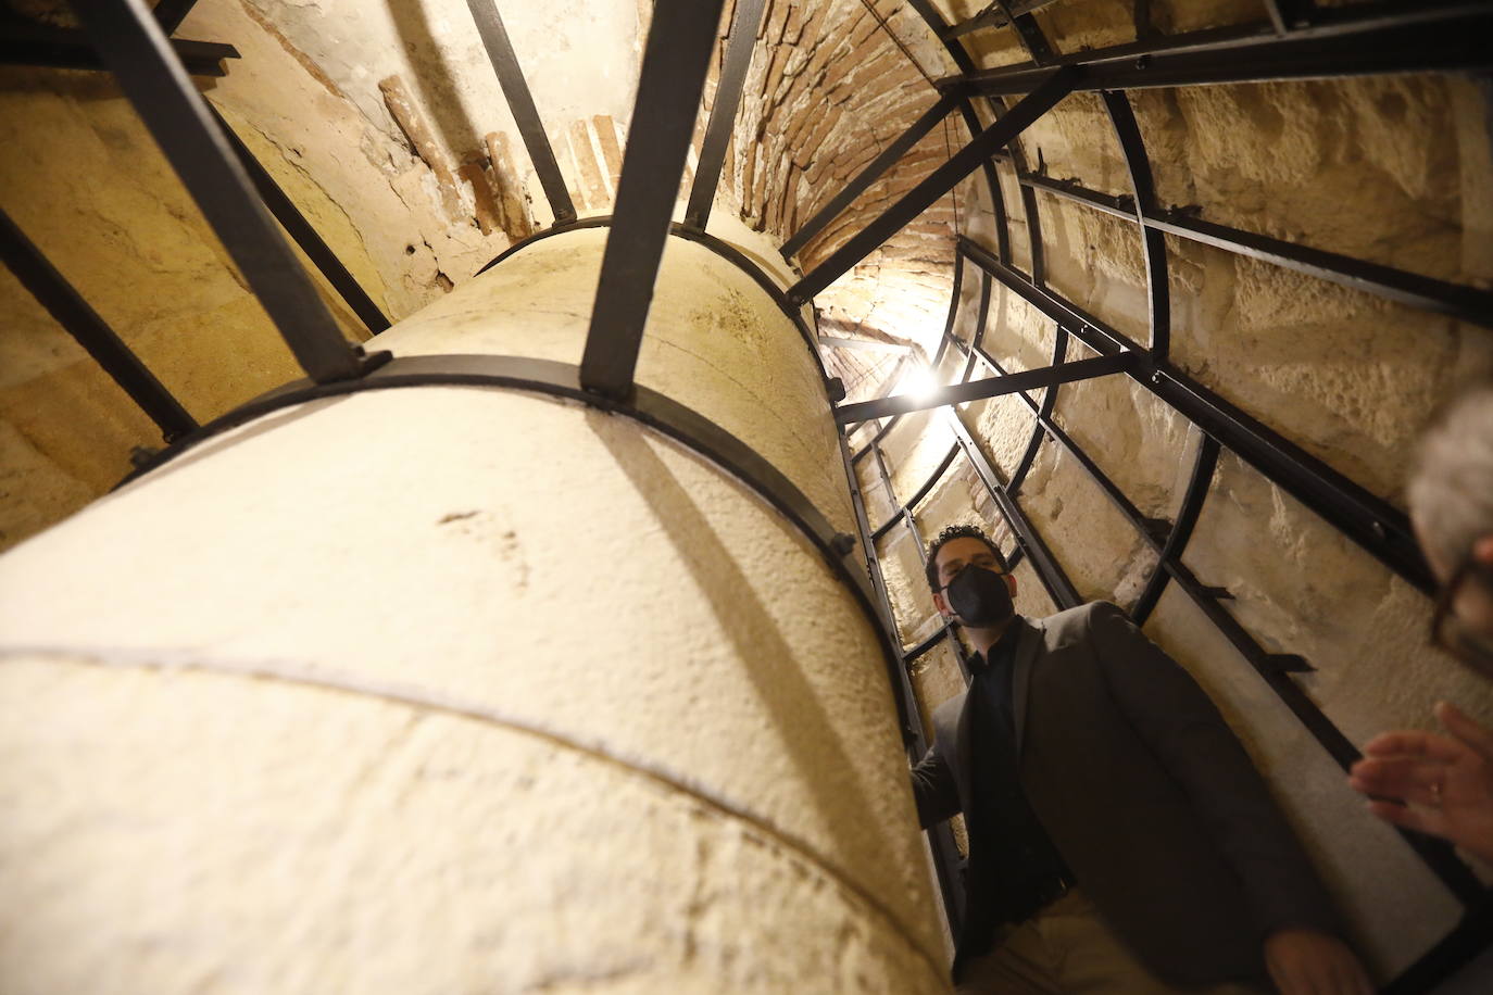
<path fill-rule="evenodd" d="M 806 303 L 821 289 L 838 280 L 853 266 L 870 255 L 876 246 L 900 231 L 903 225 L 959 185 L 961 179 L 979 169 L 979 164 L 987 161 L 996 149 L 1011 142 L 1029 124 L 1047 113 L 1053 104 L 1072 91 L 1076 79 L 1078 76 L 1066 67 L 1053 70 L 1053 75 L 1041 87 L 1023 97 L 1021 103 L 1011 112 L 981 131 L 969 145 L 956 152 L 948 163 L 933 170 L 927 179 L 914 186 L 902 200 L 830 254 L 808 276 L 790 286 L 788 300 L 797 304 Z"/>

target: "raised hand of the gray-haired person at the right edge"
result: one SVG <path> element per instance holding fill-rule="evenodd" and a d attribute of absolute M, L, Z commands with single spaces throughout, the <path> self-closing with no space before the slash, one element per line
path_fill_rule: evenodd
<path fill-rule="evenodd" d="M 1441 703 L 1451 734 L 1384 732 L 1363 747 L 1348 785 L 1372 795 L 1369 812 L 1406 829 L 1445 837 L 1493 861 L 1493 729 Z"/>

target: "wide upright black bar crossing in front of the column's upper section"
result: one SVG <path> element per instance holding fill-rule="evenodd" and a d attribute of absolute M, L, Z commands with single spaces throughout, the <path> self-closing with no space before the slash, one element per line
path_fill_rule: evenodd
<path fill-rule="evenodd" d="M 608 397 L 633 389 L 669 216 L 700 109 L 724 0 L 658 0 L 643 51 L 633 124 L 602 257 L 581 385 Z"/>

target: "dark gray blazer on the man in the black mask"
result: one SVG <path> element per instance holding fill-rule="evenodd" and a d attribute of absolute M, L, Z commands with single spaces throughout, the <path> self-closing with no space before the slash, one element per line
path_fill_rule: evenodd
<path fill-rule="evenodd" d="M 1185 670 L 1112 604 L 1014 625 L 1021 788 L 1079 888 L 1153 973 L 1173 985 L 1262 979 L 1275 929 L 1342 935 L 1300 843 Z M 924 826 L 970 809 L 966 697 L 939 706 L 933 747 L 912 771 Z M 961 949 L 996 917 L 994 898 L 969 897 Z M 956 977 L 960 967 L 956 956 Z"/>

